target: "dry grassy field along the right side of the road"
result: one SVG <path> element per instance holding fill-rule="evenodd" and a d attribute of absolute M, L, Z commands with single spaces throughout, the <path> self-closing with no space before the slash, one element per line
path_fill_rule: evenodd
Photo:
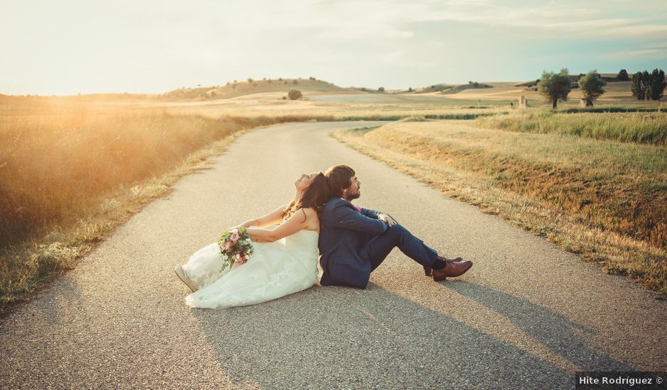
<path fill-rule="evenodd" d="M 403 121 L 335 136 L 450 196 L 546 235 L 607 272 L 667 294 L 664 146 L 502 131 L 470 121 Z"/>

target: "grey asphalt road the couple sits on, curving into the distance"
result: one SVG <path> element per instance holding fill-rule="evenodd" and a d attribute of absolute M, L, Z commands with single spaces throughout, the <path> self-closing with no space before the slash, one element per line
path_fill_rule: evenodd
<path fill-rule="evenodd" d="M 544 238 L 298 123 L 238 138 L 0 321 L 0 386 L 23 389 L 573 388 L 578 370 L 666 370 L 665 301 Z M 346 163 L 357 204 L 475 265 L 434 282 L 399 250 L 368 289 L 314 286 L 241 308 L 185 305 L 172 269 L 230 225 Z"/>

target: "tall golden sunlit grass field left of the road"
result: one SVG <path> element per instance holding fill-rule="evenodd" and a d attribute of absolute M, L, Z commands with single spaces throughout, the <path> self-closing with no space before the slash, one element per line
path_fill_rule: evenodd
<path fill-rule="evenodd" d="M 285 120 L 63 99 L 25 99 L 3 108 L 0 303 L 67 269 L 234 135 Z"/>

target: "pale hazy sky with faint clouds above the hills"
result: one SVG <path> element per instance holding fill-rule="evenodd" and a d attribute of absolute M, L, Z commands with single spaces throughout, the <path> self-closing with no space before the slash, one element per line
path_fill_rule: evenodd
<path fill-rule="evenodd" d="M 0 94 L 341 87 L 667 69 L 667 1 L 0 0 Z"/>

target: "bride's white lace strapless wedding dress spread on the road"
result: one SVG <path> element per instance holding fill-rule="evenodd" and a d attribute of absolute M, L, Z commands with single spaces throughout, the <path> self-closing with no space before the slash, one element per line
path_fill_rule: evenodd
<path fill-rule="evenodd" d="M 207 245 L 183 266 L 199 288 L 185 302 L 196 308 L 247 306 L 307 289 L 317 282 L 318 238 L 316 231 L 299 230 L 273 243 L 252 243 L 248 261 L 224 273 L 218 244 Z"/>

